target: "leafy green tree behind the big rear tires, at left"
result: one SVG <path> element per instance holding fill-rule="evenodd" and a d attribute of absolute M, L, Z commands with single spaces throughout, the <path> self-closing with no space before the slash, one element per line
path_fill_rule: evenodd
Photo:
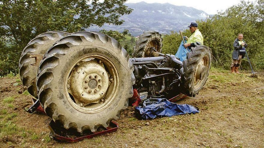
<path fill-rule="evenodd" d="M 26 44 L 38 34 L 51 30 L 76 32 L 92 25 L 121 25 L 120 16 L 132 9 L 126 0 L 2 0 L 0 1 L 1 59 L 15 61 Z M 8 45 L 6 44 L 8 43 Z M 11 50 L 7 50 L 11 46 Z M 8 48 L 7 48 L 8 47 Z M 7 51 L 2 52 L 2 51 Z M 11 53 L 16 53 L 15 57 Z M 5 54 L 2 55 L 2 54 Z M 17 58 L 18 57 L 18 58 Z M 0 67 L 3 65 L 1 60 Z M 13 68 L 5 68 L 11 70 Z"/>

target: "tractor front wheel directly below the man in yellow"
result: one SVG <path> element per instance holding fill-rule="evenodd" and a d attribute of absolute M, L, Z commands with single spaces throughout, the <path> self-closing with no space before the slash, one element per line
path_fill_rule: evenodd
<path fill-rule="evenodd" d="M 182 93 L 190 97 L 196 94 L 205 85 L 211 68 L 211 48 L 197 45 L 192 51 L 187 53 L 180 73 L 183 78 Z"/>

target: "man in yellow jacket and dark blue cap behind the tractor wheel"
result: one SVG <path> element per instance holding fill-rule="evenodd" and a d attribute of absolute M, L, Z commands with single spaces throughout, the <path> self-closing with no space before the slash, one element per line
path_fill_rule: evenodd
<path fill-rule="evenodd" d="M 192 35 L 189 38 L 184 36 L 184 38 L 187 39 L 187 43 L 185 43 L 183 46 L 190 49 L 191 47 L 195 47 L 195 44 L 203 45 L 203 37 L 202 33 L 198 29 L 198 24 L 191 22 L 191 25 L 188 27 L 190 28 Z"/>

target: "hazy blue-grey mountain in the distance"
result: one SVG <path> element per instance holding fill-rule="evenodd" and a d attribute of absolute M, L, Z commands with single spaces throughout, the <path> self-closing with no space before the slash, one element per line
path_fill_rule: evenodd
<path fill-rule="evenodd" d="M 138 36 L 147 30 L 155 30 L 163 34 L 169 34 L 172 30 L 185 30 L 190 22 L 197 19 L 205 19 L 208 14 L 193 7 L 176 6 L 165 3 L 146 2 L 126 3 L 129 8 L 134 9 L 129 15 L 124 15 L 121 19 L 125 20 L 122 25 L 104 25 L 101 28 L 91 26 L 87 30 L 118 30 L 122 32 L 128 29 L 133 36 Z"/>

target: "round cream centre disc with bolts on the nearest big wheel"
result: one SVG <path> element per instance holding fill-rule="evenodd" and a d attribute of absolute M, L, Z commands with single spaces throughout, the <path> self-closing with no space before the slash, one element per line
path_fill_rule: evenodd
<path fill-rule="evenodd" d="M 68 91 L 76 104 L 86 106 L 99 103 L 107 92 L 109 78 L 103 64 L 95 60 L 82 62 L 76 66 L 68 80 Z"/>

